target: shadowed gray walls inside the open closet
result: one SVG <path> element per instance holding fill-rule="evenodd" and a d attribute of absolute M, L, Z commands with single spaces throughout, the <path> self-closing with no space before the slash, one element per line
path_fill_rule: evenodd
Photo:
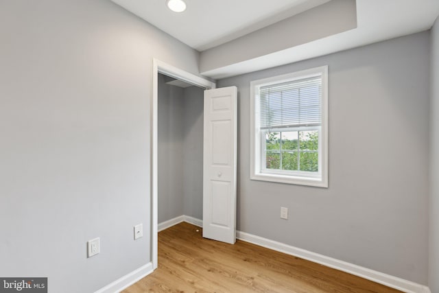
<path fill-rule="evenodd" d="M 204 93 L 158 81 L 158 223 L 202 219 Z"/>

